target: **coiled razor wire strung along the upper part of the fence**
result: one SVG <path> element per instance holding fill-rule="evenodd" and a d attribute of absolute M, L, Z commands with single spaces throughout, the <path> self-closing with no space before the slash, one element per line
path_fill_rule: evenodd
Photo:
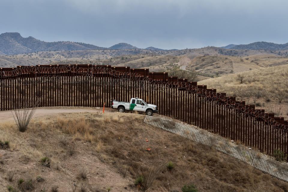
<path fill-rule="evenodd" d="M 37 78 L 31 79 L 20 77 L 21 75 L 29 73 L 30 76 L 32 76 L 31 73 L 33 73 L 33 77 Z M 38 76 L 38 74 L 40 75 Z M 65 76 L 72 76 L 72 79 L 64 78 Z M 16 81 L 16 83 L 21 83 L 21 85 L 23 83 L 28 85 L 35 83 L 43 83 L 47 81 L 57 81 L 64 83 L 81 83 L 91 81 L 91 83 L 95 83 L 97 85 L 108 86 L 124 86 L 128 84 L 129 86 L 133 86 L 135 88 L 152 91 L 166 91 L 167 88 L 173 88 L 176 89 L 176 91 L 173 91 L 173 93 L 171 93 L 171 91 L 168 91 L 169 94 L 177 97 L 191 98 L 191 94 L 193 93 L 196 94 L 198 97 L 205 98 L 205 102 L 217 101 L 217 107 L 225 106 L 226 109 L 234 109 L 238 113 L 244 113 L 245 117 L 253 117 L 254 119 L 257 119 L 257 121 L 263 121 L 268 125 L 272 125 L 275 128 L 275 131 L 283 130 L 285 133 L 288 131 L 287 125 L 280 124 L 279 122 L 275 121 L 274 118 L 265 115 L 265 113 L 259 110 L 255 110 L 239 102 L 233 101 L 231 98 L 226 97 L 226 95 L 224 94 L 216 93 L 203 88 L 198 88 L 197 86 L 191 85 L 189 82 L 165 82 L 165 79 L 164 81 L 155 80 L 149 78 L 149 76 L 143 76 L 139 73 L 120 72 L 108 67 L 85 68 L 75 65 L 54 67 L 24 66 L 12 70 L 0 71 L 0 87 L 7 87 L 10 86 L 10 84 L 14 83 L 12 81 L 5 81 L 4 83 L 4 81 L 1 79 L 15 79 L 15 77 L 21 78 L 21 81 Z M 53 77 L 53 79 L 51 79 L 51 77 Z M 101 80 L 99 80 L 100 77 Z M 103 79 L 103 77 L 109 78 Z M 187 91 L 188 94 L 186 94 L 185 91 Z"/>

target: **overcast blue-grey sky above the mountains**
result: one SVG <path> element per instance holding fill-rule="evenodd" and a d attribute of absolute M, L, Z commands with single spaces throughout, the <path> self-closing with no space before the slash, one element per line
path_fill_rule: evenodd
<path fill-rule="evenodd" d="M 0 0 L 0 33 L 109 47 L 288 42 L 287 0 Z"/>

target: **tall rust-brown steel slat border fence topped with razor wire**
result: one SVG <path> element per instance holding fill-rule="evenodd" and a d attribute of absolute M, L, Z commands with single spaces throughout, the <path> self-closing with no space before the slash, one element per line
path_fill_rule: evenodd
<path fill-rule="evenodd" d="M 197 82 L 149 69 L 71 64 L 1 68 L 0 110 L 21 108 L 27 99 L 39 107 L 110 107 L 110 99 L 139 97 L 158 106 L 159 113 L 193 124 L 273 155 L 288 154 L 288 121 L 226 97 Z"/>

